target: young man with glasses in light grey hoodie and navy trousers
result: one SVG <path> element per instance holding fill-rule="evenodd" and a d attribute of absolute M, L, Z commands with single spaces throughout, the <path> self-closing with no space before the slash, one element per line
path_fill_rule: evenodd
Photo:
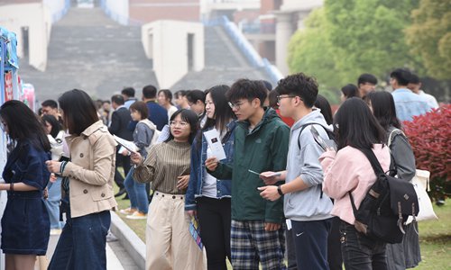
<path fill-rule="evenodd" d="M 329 269 L 327 265 L 327 236 L 332 225 L 330 211 L 333 204 L 322 192 L 323 170 L 318 157 L 323 153 L 311 129 L 327 137 L 327 122 L 318 109 L 312 109 L 318 95 L 318 84 L 302 73 L 287 76 L 277 86 L 281 115 L 295 123 L 290 130 L 290 152 L 287 169 L 280 176 L 262 173 L 265 183 L 285 180 L 285 184 L 261 187 L 261 195 L 268 200 L 284 196 L 284 213 L 292 225 L 292 237 L 299 269 Z M 290 251 L 289 251 L 290 252 Z"/>

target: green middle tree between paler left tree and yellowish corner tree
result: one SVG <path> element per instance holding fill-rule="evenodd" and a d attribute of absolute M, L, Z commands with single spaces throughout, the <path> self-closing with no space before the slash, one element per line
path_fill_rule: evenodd
<path fill-rule="evenodd" d="M 361 73 L 385 77 L 395 67 L 420 67 L 404 38 L 418 0 L 325 1 L 328 38 L 346 80 Z"/>

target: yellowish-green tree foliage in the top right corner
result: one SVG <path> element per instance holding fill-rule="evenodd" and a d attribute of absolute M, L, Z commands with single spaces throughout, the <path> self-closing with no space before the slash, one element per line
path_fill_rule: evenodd
<path fill-rule="evenodd" d="M 421 0 L 411 17 L 411 51 L 423 59 L 428 76 L 451 79 L 451 0 Z"/>

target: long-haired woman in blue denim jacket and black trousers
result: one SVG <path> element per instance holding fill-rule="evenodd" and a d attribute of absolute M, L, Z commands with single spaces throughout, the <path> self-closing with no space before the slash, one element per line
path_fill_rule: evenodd
<path fill-rule="evenodd" d="M 230 257 L 230 179 L 216 179 L 204 166 L 211 155 L 203 132 L 216 129 L 226 151 L 226 162 L 233 162 L 235 139 L 235 114 L 227 103 L 227 85 L 217 85 L 207 90 L 207 121 L 199 130 L 191 148 L 191 173 L 185 197 L 185 211 L 198 215 L 202 242 L 207 250 L 208 269 L 227 269 Z"/>

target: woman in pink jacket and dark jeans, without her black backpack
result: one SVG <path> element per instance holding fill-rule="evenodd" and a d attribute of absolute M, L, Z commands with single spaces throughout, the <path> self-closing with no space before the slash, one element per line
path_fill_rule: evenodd
<path fill-rule="evenodd" d="M 367 238 L 354 228 L 354 212 L 349 193 L 359 208 L 365 194 L 376 181 L 370 161 L 359 148 L 372 149 L 388 171 L 389 148 L 382 143 L 385 131 L 364 101 L 352 97 L 336 112 L 337 152 L 328 150 L 319 160 L 324 170 L 323 191 L 335 199 L 332 214 L 341 220 L 341 249 L 347 269 L 386 269 L 385 246 L 380 240 Z"/>

